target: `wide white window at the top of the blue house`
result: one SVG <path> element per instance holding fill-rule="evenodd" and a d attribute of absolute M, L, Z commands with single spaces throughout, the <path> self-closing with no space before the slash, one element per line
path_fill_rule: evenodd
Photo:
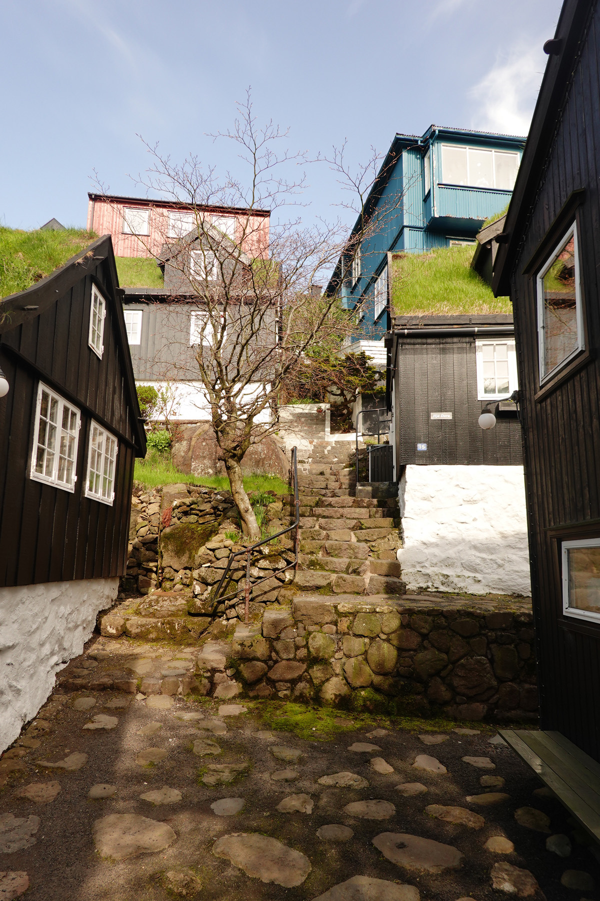
<path fill-rule="evenodd" d="M 443 144 L 443 183 L 512 191 L 519 161 L 519 154 L 512 150 L 484 150 L 479 147 Z"/>

